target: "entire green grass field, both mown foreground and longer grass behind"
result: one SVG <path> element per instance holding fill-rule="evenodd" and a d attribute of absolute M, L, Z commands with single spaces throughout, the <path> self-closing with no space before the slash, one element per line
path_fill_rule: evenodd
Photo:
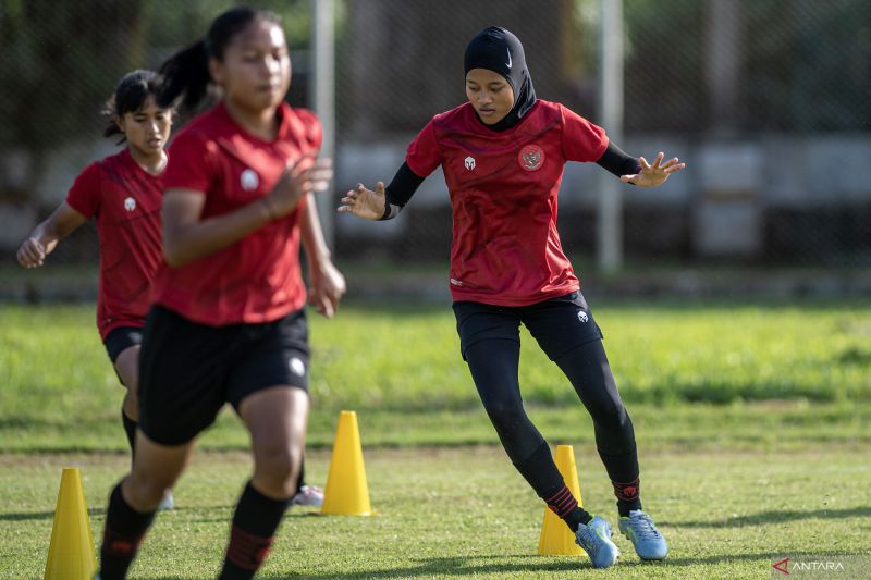
<path fill-rule="evenodd" d="M 666 563 L 639 563 L 623 539 L 604 573 L 536 556 L 543 506 L 494 445 L 450 309 L 356 306 L 310 319 L 308 470 L 323 484 L 338 411 L 356 410 L 379 516 L 294 511 L 262 577 L 761 578 L 775 556 L 871 556 L 871 303 L 593 306 Z M 528 334 L 520 374 L 544 435 L 575 445 L 585 504 L 615 523 L 590 421 Z M 0 578 L 41 577 L 68 464 L 99 535 L 127 465 L 121 396 L 93 307 L 0 307 Z M 246 446 L 225 411 L 134 578 L 213 576 Z"/>

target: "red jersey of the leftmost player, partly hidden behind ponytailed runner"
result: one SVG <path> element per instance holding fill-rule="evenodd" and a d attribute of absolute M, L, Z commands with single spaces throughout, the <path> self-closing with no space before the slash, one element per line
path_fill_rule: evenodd
<path fill-rule="evenodd" d="M 145 171 L 124 149 L 85 168 L 66 194 L 68 206 L 97 219 L 97 328 L 102 338 L 120 326 L 145 324 L 149 286 L 162 259 L 162 192 L 160 176 Z"/>

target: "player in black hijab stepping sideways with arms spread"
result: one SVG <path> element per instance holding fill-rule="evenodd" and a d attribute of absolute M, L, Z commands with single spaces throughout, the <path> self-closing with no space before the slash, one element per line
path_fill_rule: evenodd
<path fill-rule="evenodd" d="M 520 474 L 573 532 L 593 566 L 619 552 L 611 527 L 578 506 L 550 448 L 524 411 L 517 378 L 519 324 L 566 374 L 596 425 L 614 485 L 619 529 L 638 555 L 661 559 L 665 540 L 641 510 L 633 424 L 602 347 L 602 334 L 560 247 L 556 195 L 567 161 L 596 161 L 625 183 L 662 184 L 683 169 L 630 158 L 605 132 L 559 103 L 536 99 L 520 41 L 504 28 L 481 30 L 466 48 L 469 102 L 436 115 L 408 147 L 391 184 L 363 184 L 340 212 L 395 218 L 441 165 L 451 194 L 451 293 L 461 351 L 502 445 Z"/>

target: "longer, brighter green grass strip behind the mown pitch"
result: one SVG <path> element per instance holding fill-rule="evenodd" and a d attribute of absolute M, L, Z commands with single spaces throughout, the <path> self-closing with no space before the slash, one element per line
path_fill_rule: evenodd
<path fill-rule="evenodd" d="M 868 441 L 868 306 L 593 305 L 639 441 L 682 448 Z M 310 321 L 315 447 L 329 446 L 343 408 L 370 445 L 496 441 L 450 309 L 356 306 Z M 3 306 L 0 345 L 0 451 L 124 448 L 123 391 L 93 306 Z M 525 331 L 520 384 L 548 437 L 591 441 L 574 391 Z M 224 412 L 204 445 L 244 448 L 247 435 Z"/>

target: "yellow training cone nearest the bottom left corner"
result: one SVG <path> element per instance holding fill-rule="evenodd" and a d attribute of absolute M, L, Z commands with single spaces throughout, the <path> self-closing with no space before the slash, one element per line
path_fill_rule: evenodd
<path fill-rule="evenodd" d="M 63 468 L 45 580 L 90 580 L 97 571 L 94 536 L 82 478 L 75 467 Z"/>

